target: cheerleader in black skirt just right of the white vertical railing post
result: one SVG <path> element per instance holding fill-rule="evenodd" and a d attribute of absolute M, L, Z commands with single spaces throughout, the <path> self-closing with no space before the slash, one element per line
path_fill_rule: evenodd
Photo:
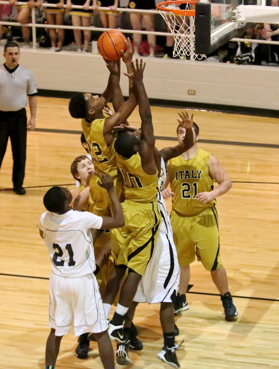
<path fill-rule="evenodd" d="M 66 9 L 64 8 L 64 0 L 46 0 L 46 2 L 50 4 L 57 4 L 57 8 L 46 7 L 44 9 L 47 23 L 63 25 L 64 14 L 66 11 Z M 48 33 L 50 35 L 51 42 L 50 49 L 52 51 L 61 51 L 64 42 L 64 30 L 62 28 L 58 28 L 56 33 L 55 28 L 48 28 Z"/>

